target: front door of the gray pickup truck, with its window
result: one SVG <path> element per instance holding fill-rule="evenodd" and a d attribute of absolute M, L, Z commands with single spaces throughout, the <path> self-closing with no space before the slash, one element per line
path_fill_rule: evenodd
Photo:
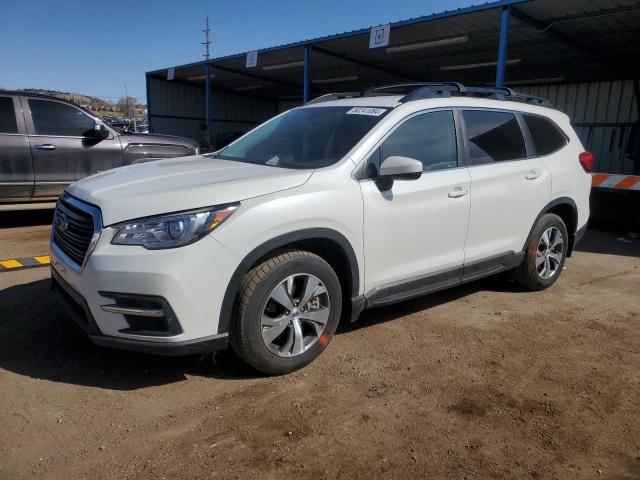
<path fill-rule="evenodd" d="M 22 97 L 33 154 L 36 198 L 56 197 L 70 183 L 122 165 L 117 135 L 92 136 L 95 120 L 57 100 Z"/>

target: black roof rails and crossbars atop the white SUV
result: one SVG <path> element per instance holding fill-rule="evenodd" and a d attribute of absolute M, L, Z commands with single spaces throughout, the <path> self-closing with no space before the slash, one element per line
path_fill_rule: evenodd
<path fill-rule="evenodd" d="M 530 103 L 541 107 L 552 107 L 552 103 L 543 97 L 516 92 L 508 87 L 474 87 L 458 82 L 424 82 L 400 83 L 369 88 L 363 92 L 328 93 L 307 102 L 306 104 L 328 102 L 341 98 L 375 97 L 383 95 L 403 95 L 400 103 L 443 97 L 481 97 L 491 100 L 509 100 Z"/>

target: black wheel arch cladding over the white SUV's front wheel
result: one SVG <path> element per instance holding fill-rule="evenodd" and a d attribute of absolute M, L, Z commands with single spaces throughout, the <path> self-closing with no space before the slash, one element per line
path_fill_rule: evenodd
<path fill-rule="evenodd" d="M 287 248 L 307 250 L 322 257 L 338 276 L 343 295 L 343 312 L 351 307 L 351 297 L 358 295 L 360 270 L 353 247 L 341 233 L 327 228 L 310 228 L 275 237 L 251 251 L 238 265 L 227 285 L 218 333 L 229 331 L 242 277 L 274 252 Z M 344 314 L 344 313 L 343 313 Z M 348 311 L 347 311 L 348 314 Z"/>

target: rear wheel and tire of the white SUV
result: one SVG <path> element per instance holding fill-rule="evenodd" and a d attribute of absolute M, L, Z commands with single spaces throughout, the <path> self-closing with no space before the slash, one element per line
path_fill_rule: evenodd
<path fill-rule="evenodd" d="M 552 213 L 542 215 L 529 235 L 524 260 L 515 269 L 514 279 L 528 290 L 549 288 L 562 273 L 568 247 L 569 235 L 562 219 Z"/>

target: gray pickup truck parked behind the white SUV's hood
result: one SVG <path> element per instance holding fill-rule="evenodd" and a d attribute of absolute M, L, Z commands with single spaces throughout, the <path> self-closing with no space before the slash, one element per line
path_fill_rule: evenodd
<path fill-rule="evenodd" d="M 197 153 L 188 138 L 122 133 L 71 102 L 0 91 L 0 203 L 55 200 L 103 170 Z"/>

